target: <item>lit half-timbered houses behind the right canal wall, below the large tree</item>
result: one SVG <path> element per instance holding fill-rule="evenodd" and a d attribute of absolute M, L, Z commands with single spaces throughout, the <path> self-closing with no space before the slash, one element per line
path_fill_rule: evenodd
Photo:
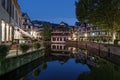
<path fill-rule="evenodd" d="M 78 31 L 80 41 L 104 41 L 108 39 L 112 40 L 111 33 L 108 33 L 106 30 L 98 29 L 98 27 L 93 27 L 91 24 L 76 22 L 75 27 Z"/>

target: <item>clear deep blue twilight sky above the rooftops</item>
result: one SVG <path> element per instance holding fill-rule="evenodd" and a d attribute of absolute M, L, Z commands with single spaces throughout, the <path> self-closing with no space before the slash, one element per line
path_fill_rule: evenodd
<path fill-rule="evenodd" d="M 22 12 L 27 12 L 31 20 L 53 23 L 64 21 L 74 25 L 75 0 L 18 0 Z"/>

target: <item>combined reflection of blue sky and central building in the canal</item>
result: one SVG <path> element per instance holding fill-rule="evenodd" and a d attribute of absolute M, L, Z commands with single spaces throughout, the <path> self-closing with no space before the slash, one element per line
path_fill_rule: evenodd
<path fill-rule="evenodd" d="M 77 48 L 65 44 L 52 44 L 50 48 L 46 62 L 37 68 L 39 70 L 36 73 L 40 71 L 40 74 L 34 77 L 35 69 L 25 77 L 29 80 L 77 80 L 79 74 L 90 72 L 88 65 L 76 62 L 74 55 L 78 54 Z M 48 46 L 45 49 L 49 50 Z"/>

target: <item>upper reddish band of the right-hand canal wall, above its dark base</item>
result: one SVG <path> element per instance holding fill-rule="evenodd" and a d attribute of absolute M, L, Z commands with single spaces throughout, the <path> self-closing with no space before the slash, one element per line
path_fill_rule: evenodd
<path fill-rule="evenodd" d="M 119 46 L 114 46 L 110 44 L 102 44 L 102 43 L 94 43 L 94 42 L 76 42 L 76 41 L 67 41 L 67 45 L 72 45 L 72 46 L 78 46 L 82 49 L 96 49 L 100 50 L 101 52 L 107 52 L 115 55 L 120 56 L 120 47 Z"/>

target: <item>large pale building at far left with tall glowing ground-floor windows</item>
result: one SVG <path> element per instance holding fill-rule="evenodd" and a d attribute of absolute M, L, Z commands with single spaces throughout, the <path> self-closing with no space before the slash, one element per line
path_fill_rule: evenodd
<path fill-rule="evenodd" d="M 22 15 L 17 0 L 0 0 L 0 44 L 14 39 L 15 27 L 21 27 Z"/>

